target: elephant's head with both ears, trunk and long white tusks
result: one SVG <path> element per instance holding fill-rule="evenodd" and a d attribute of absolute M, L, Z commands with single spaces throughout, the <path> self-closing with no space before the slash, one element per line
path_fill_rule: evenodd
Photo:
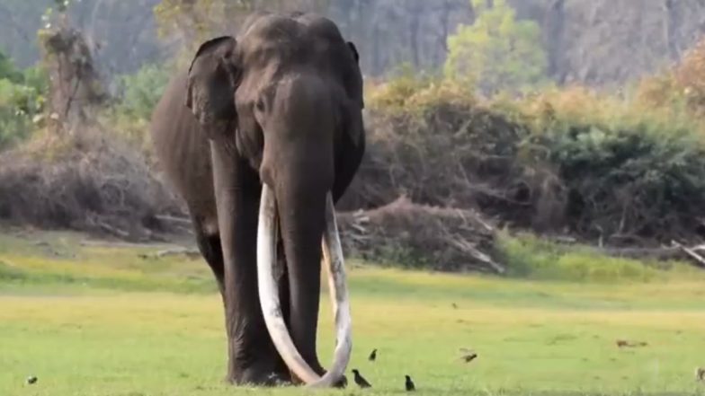
<path fill-rule="evenodd" d="M 364 145 L 357 51 L 325 18 L 258 15 L 237 39 L 201 45 L 189 71 L 186 105 L 210 139 L 228 145 L 262 181 L 258 285 L 275 347 L 305 383 L 338 381 L 350 358 L 351 321 L 333 204 L 352 177 L 342 175 L 350 168 L 346 153 Z M 296 279 L 289 285 L 289 328 L 272 278 L 278 237 L 290 279 Z M 317 365 L 322 251 L 337 345 L 333 366 L 319 377 L 311 366 Z M 297 345 L 311 337 L 314 356 L 310 345 L 299 354 Z"/>

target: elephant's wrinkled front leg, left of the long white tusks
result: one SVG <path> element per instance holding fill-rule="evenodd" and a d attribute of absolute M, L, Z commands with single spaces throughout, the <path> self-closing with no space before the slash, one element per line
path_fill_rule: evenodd
<path fill-rule="evenodd" d="M 265 327 L 257 293 L 259 180 L 225 145 L 213 142 L 211 151 L 225 263 L 228 381 L 237 384 L 288 381 L 286 365 Z"/>

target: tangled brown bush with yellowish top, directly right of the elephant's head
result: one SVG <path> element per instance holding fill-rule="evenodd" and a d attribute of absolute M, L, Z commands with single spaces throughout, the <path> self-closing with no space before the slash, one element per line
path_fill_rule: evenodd
<path fill-rule="evenodd" d="M 526 125 L 450 83 L 414 81 L 370 90 L 367 152 L 339 207 L 369 209 L 406 195 L 513 225 L 560 225 L 560 209 L 552 206 L 564 199 L 563 189 L 549 163 L 527 166 Z"/>

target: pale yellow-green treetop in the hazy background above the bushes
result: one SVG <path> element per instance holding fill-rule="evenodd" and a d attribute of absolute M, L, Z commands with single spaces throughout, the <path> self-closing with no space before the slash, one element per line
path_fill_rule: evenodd
<path fill-rule="evenodd" d="M 471 0 L 477 19 L 448 38 L 446 77 L 475 82 L 481 92 L 524 92 L 546 80 L 547 56 L 536 22 L 517 21 L 506 0 Z"/>

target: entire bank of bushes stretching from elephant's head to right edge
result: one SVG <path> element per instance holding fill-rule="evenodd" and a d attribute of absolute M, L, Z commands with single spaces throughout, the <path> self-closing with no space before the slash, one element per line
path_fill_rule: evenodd
<path fill-rule="evenodd" d="M 698 119 L 583 87 L 477 103 L 416 84 L 370 94 L 366 158 L 341 208 L 406 195 L 608 244 L 705 238 Z"/>

